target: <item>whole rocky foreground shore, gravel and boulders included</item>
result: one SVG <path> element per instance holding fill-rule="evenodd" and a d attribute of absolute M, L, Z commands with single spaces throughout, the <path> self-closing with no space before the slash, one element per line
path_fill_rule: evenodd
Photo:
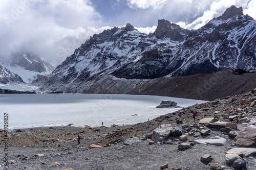
<path fill-rule="evenodd" d="M 1 166 L 70 170 L 256 169 L 255 107 L 256 89 L 131 126 L 19 129 L 8 134 L 8 166 L 4 166 L 5 145 L 1 140 Z M 196 120 L 191 111 L 197 112 Z M 4 134 L 0 136 L 4 139 Z"/>

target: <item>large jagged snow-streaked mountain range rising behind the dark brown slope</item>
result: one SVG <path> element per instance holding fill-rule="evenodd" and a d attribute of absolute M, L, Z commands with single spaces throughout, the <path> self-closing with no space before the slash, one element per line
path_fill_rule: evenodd
<path fill-rule="evenodd" d="M 158 20 L 154 33 L 130 23 L 90 37 L 52 74 L 33 84 L 41 89 L 81 92 L 90 81 L 112 75 L 153 79 L 211 73 L 225 68 L 256 71 L 256 21 L 231 6 L 198 30 Z"/>

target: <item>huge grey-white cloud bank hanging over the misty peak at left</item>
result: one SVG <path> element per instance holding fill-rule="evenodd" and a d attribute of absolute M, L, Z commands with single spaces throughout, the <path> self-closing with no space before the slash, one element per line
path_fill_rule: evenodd
<path fill-rule="evenodd" d="M 2 0 L 0 11 L 1 56 L 23 50 L 60 63 L 90 36 L 109 28 L 101 27 L 102 16 L 89 0 Z M 74 44 L 77 35 L 83 38 Z M 65 48 L 66 56 L 60 55 Z"/>

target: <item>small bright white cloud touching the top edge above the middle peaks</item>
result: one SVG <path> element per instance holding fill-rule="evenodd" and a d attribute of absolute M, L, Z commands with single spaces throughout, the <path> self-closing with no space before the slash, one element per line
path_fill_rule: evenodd
<path fill-rule="evenodd" d="M 130 8 L 157 9 L 166 4 L 167 0 L 128 0 L 127 2 Z"/>

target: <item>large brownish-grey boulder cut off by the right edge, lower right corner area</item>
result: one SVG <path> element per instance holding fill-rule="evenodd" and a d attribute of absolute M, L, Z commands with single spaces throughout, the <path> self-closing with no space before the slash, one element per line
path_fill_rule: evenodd
<path fill-rule="evenodd" d="M 235 139 L 237 140 L 235 143 L 237 147 L 256 147 L 256 127 L 250 125 L 244 128 L 244 130 L 238 133 Z"/>

